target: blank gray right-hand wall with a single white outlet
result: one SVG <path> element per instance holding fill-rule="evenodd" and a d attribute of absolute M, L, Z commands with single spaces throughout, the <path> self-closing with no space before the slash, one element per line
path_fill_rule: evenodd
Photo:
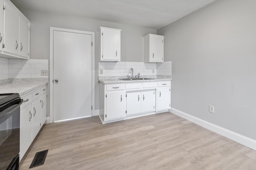
<path fill-rule="evenodd" d="M 172 61 L 171 106 L 254 140 L 255 7 L 255 0 L 217 0 L 157 30 Z"/>

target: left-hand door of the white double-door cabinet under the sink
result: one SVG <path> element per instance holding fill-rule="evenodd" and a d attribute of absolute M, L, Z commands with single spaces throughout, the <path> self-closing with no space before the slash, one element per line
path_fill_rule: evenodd
<path fill-rule="evenodd" d="M 127 115 L 141 112 L 141 92 L 127 93 Z"/>

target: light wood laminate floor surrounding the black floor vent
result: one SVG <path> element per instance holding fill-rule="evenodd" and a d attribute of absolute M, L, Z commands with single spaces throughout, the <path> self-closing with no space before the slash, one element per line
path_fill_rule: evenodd
<path fill-rule="evenodd" d="M 256 169 L 256 151 L 172 113 L 102 125 L 99 117 L 50 123 L 22 159 L 49 149 L 32 170 Z"/>

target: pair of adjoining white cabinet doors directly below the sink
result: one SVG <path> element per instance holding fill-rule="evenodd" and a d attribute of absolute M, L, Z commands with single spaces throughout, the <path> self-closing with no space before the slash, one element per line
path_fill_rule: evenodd
<path fill-rule="evenodd" d="M 127 93 L 127 115 L 155 110 L 155 90 Z"/>

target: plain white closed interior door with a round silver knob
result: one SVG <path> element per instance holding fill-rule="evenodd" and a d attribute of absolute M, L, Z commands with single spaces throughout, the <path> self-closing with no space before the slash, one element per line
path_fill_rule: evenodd
<path fill-rule="evenodd" d="M 92 35 L 53 31 L 53 120 L 92 115 Z"/>

